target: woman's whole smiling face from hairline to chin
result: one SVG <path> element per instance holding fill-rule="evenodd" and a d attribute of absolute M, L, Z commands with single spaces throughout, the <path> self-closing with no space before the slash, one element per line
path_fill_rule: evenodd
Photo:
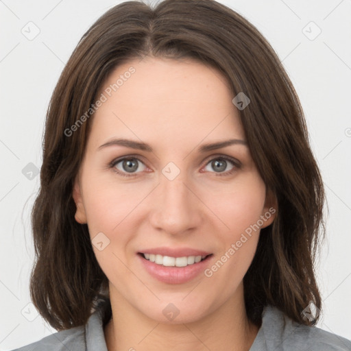
<path fill-rule="evenodd" d="M 259 228 L 275 210 L 233 98 L 215 69 L 148 57 L 119 66 L 100 91 L 73 196 L 119 306 L 191 322 L 243 304 Z"/>

